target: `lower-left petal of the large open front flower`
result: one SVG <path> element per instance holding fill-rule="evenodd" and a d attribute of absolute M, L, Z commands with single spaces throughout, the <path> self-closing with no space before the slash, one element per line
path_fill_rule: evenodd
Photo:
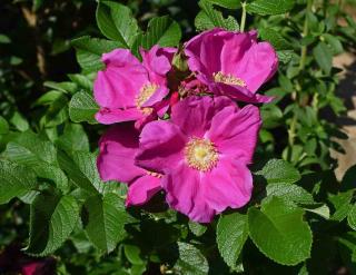
<path fill-rule="evenodd" d="M 191 220 L 209 223 L 215 210 L 205 199 L 205 183 L 200 180 L 200 173 L 181 164 L 167 174 L 162 180 L 167 191 L 167 203 L 176 210 L 187 215 Z"/>

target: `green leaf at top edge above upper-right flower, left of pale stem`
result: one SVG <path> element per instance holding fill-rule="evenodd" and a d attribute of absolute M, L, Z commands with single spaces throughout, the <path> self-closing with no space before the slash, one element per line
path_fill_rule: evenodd
<path fill-rule="evenodd" d="M 238 30 L 239 26 L 234 17 L 228 17 L 225 19 L 220 11 L 214 9 L 211 1 L 209 0 L 200 0 L 199 7 L 202 12 L 199 12 L 195 24 L 198 30 L 207 30 L 211 29 L 211 27 L 220 27 L 226 30 Z"/>

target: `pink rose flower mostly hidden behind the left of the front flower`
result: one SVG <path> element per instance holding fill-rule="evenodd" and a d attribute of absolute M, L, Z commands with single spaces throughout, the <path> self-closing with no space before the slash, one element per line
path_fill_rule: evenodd
<path fill-rule="evenodd" d="M 126 205 L 142 205 L 161 189 L 161 175 L 135 165 L 139 132 L 131 124 L 115 125 L 99 140 L 97 166 L 102 180 L 128 183 Z"/>

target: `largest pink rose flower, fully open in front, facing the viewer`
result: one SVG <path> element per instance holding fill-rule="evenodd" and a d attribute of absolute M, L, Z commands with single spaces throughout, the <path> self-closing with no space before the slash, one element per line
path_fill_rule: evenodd
<path fill-rule="evenodd" d="M 172 107 L 171 120 L 147 124 L 136 163 L 165 174 L 169 205 L 208 223 L 251 196 L 251 163 L 261 120 L 257 107 L 239 109 L 227 97 L 188 97 Z"/>

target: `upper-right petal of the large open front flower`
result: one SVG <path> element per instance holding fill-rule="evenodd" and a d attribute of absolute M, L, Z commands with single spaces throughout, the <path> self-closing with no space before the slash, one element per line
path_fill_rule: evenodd
<path fill-rule="evenodd" d="M 240 110 L 228 107 L 212 118 L 207 137 L 219 154 L 246 165 L 253 160 L 260 126 L 257 107 L 248 105 Z"/>

